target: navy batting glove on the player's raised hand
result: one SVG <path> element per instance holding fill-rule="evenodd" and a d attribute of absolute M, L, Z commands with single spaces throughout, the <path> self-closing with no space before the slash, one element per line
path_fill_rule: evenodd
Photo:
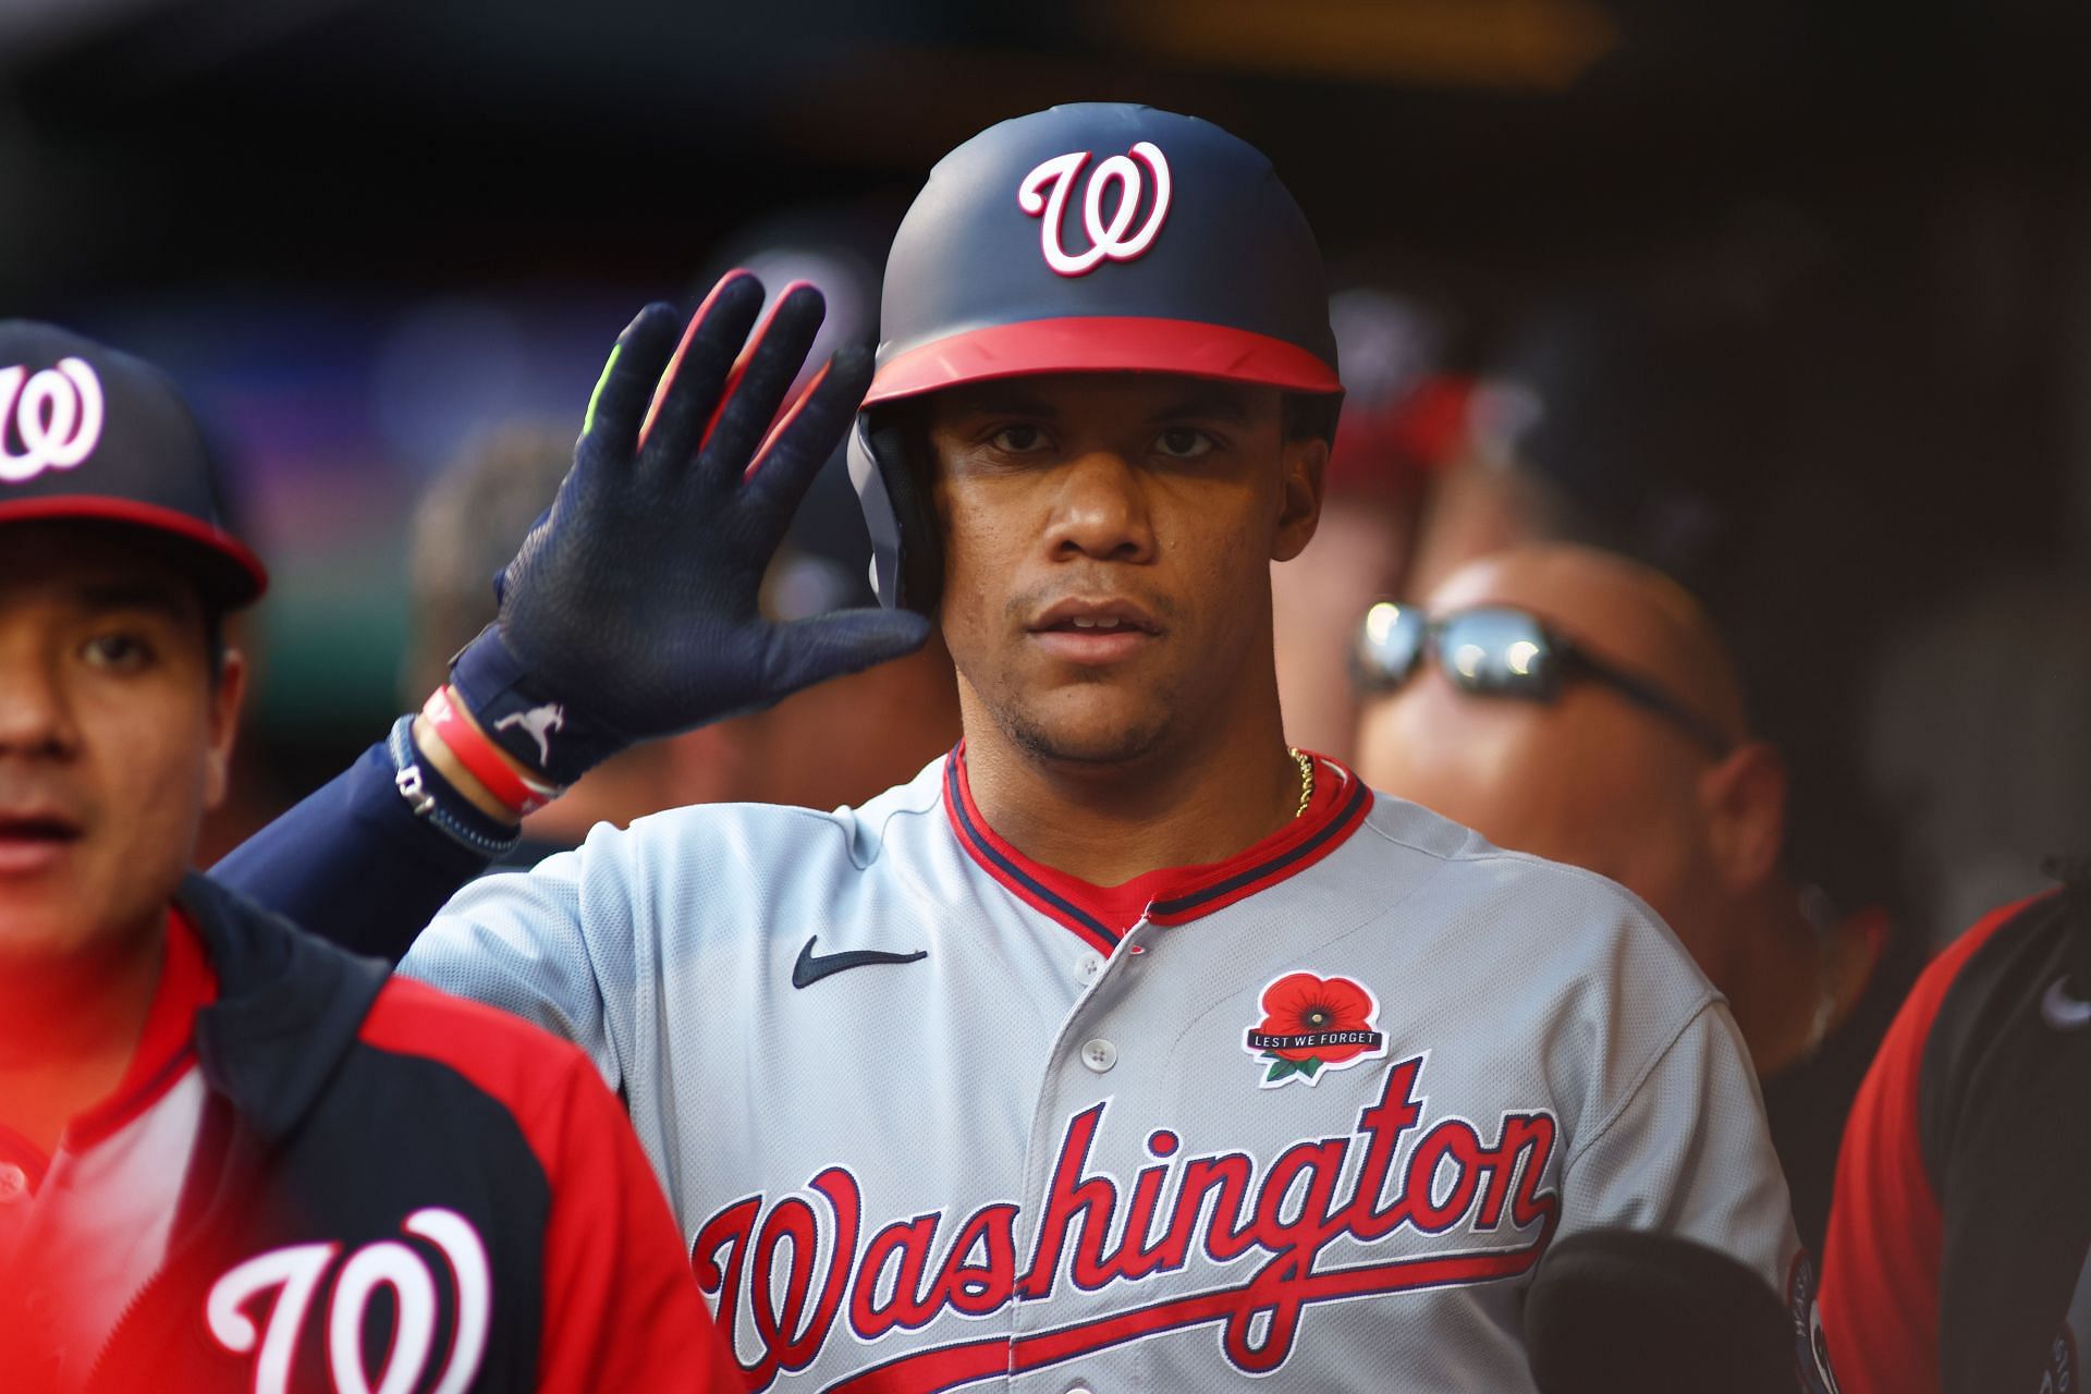
<path fill-rule="evenodd" d="M 751 336 L 761 303 L 736 272 L 680 343 L 667 305 L 625 328 L 573 470 L 500 577 L 500 619 L 452 665 L 466 711 L 552 784 L 928 640 L 907 610 L 761 617 L 763 571 L 872 380 L 870 351 L 841 349 L 772 426 L 824 301 L 792 284 Z"/>

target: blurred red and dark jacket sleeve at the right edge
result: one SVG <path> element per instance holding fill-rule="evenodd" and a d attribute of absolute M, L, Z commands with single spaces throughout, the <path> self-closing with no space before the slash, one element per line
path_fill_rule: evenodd
<path fill-rule="evenodd" d="M 1917 978 L 1859 1089 L 1823 1254 L 1844 1394 L 2064 1394 L 2091 1312 L 2091 884 Z"/>

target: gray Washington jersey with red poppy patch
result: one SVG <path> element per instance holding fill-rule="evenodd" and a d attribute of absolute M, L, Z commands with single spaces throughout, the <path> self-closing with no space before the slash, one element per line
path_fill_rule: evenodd
<path fill-rule="evenodd" d="M 1219 865 L 1029 861 L 960 757 L 462 890 L 406 972 L 623 1091 L 751 1388 L 1531 1390 L 1591 1225 L 1798 1252 L 1721 997 L 1616 884 L 1324 761 Z"/>

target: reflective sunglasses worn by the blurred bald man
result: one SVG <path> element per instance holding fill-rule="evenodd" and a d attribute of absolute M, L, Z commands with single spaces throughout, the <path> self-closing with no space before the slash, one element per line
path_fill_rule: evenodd
<path fill-rule="evenodd" d="M 1363 692 L 1393 692 L 1434 652 L 1445 677 L 1460 692 L 1552 702 L 1562 683 L 1600 681 L 1635 706 L 1652 711 L 1717 759 L 1733 748 L 1710 721 L 1683 702 L 1641 681 L 1549 627 L 1529 610 L 1476 606 L 1428 619 L 1422 606 L 1382 600 L 1365 610 L 1357 631 L 1353 669 Z"/>

